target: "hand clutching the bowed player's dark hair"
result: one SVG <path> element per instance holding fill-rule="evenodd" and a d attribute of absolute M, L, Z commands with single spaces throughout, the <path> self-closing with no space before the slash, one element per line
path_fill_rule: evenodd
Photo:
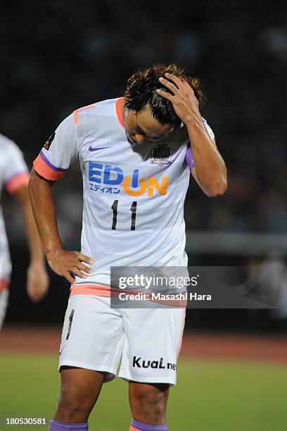
<path fill-rule="evenodd" d="M 160 96 L 172 102 L 174 111 L 181 121 L 186 124 L 194 120 L 194 118 L 201 118 L 198 110 L 198 99 L 196 99 L 196 95 L 189 83 L 171 73 L 165 73 L 165 77 L 167 79 L 164 77 L 159 78 L 160 83 L 170 89 L 173 94 L 165 92 L 164 89 L 157 89 L 156 91 Z"/>

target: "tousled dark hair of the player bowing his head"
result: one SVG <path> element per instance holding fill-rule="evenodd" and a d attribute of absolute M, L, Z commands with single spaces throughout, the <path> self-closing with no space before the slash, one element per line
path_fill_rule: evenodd
<path fill-rule="evenodd" d="M 203 92 L 200 89 L 200 82 L 196 77 L 189 77 L 184 75 L 184 70 L 179 68 L 176 64 L 153 65 L 152 68 L 137 70 L 127 81 L 127 89 L 125 91 L 125 106 L 132 111 L 140 112 L 148 104 L 151 113 L 155 120 L 162 125 L 170 124 L 174 128 L 179 128 L 181 120 L 174 112 L 172 103 L 160 96 L 156 89 L 163 89 L 165 92 L 172 94 L 170 89 L 161 84 L 158 80 L 159 77 L 167 77 L 165 73 L 172 73 L 182 80 L 191 85 L 196 98 L 198 99 L 199 106 L 203 101 Z"/>

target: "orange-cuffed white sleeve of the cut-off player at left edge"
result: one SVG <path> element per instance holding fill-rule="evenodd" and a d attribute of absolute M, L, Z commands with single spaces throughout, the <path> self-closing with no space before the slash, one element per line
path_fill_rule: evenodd
<path fill-rule="evenodd" d="M 19 147 L 7 139 L 4 157 L 3 180 L 9 193 L 17 192 L 29 182 L 29 171 Z"/>

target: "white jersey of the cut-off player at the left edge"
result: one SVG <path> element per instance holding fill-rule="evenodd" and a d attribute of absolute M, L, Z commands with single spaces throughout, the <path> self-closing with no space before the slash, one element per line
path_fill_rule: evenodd
<path fill-rule="evenodd" d="M 13 141 L 0 135 L 0 188 L 5 186 L 13 194 L 28 181 L 29 173 L 22 152 Z M 0 292 L 8 289 L 10 274 L 11 259 L 0 206 Z"/>

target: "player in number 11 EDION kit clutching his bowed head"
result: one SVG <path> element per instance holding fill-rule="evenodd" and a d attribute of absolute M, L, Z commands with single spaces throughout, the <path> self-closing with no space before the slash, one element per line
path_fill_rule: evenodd
<path fill-rule="evenodd" d="M 103 382 L 115 377 L 120 360 L 119 375 L 129 382 L 129 429 L 167 430 L 185 309 L 111 308 L 110 266 L 187 266 L 183 206 L 190 170 L 208 196 L 227 189 L 201 98 L 198 80 L 176 65 L 140 70 L 124 97 L 68 116 L 34 161 L 30 196 L 46 258 L 72 284 L 51 431 L 87 430 Z M 84 188 L 80 252 L 63 249 L 52 193 L 76 158 Z"/>

